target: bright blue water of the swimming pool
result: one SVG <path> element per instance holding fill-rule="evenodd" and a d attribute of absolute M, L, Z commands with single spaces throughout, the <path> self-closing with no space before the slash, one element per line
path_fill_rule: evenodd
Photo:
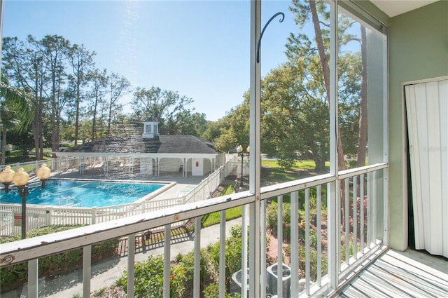
<path fill-rule="evenodd" d="M 106 207 L 128 204 L 163 187 L 163 184 L 48 180 L 45 189 L 31 189 L 28 204 Z M 59 203 L 60 202 L 60 203 Z M 1 191 L 0 203 L 22 203 L 18 194 Z"/>

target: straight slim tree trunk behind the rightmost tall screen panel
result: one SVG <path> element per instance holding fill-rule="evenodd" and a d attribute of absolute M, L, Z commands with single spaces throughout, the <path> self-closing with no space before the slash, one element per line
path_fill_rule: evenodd
<path fill-rule="evenodd" d="M 365 165 L 365 150 L 367 146 L 367 34 L 365 27 L 361 26 L 361 102 L 359 107 L 359 136 L 357 165 Z"/>

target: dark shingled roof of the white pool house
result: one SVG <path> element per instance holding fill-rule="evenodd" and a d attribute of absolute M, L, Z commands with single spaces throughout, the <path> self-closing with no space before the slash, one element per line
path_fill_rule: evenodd
<path fill-rule="evenodd" d="M 108 137 L 61 152 L 83 153 L 160 153 L 160 154 L 216 154 L 213 144 L 193 135 L 160 135 L 143 139 L 141 135 Z"/>

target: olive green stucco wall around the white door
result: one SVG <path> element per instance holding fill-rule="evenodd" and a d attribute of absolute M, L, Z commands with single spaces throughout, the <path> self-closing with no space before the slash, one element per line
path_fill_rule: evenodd
<path fill-rule="evenodd" d="M 389 245 L 407 248 L 407 182 L 402 83 L 448 75 L 448 1 L 388 20 Z"/>

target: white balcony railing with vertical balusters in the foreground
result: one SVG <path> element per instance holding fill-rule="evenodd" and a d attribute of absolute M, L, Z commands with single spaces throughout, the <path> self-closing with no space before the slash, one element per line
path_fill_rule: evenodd
<path fill-rule="evenodd" d="M 387 164 L 369 165 L 339 172 L 338 177 L 320 175 L 263 187 L 260 198 L 243 191 L 158 212 L 5 243 L 0 245 L 0 266 L 29 262 L 27 296 L 38 297 L 38 259 L 83 248 L 83 297 L 90 297 L 90 292 L 97 290 L 92 289 L 90 283 L 92 245 L 123 237 L 127 237 L 127 243 L 133 244 L 136 236 L 158 229 L 165 231 L 162 240 L 163 297 L 169 297 L 170 266 L 174 257 L 172 226 L 188 219 L 193 222 L 194 219 L 194 268 L 193 276 L 188 277 L 192 280 L 192 287 L 188 290 L 193 293 L 193 297 L 200 297 L 201 239 L 207 233 L 206 229 L 202 232 L 201 218 L 220 212 L 219 235 L 214 235 L 221 240 L 221 265 L 216 283 L 219 285 L 220 297 L 224 297 L 225 292 L 230 291 L 226 287 L 225 241 L 222 241 L 226 238 L 225 212 L 241 206 L 241 255 L 244 257 L 241 258 L 240 280 L 248 280 L 248 283 L 240 283 L 237 288 L 238 292 L 241 291 L 241 297 L 330 294 L 339 289 L 353 272 L 362 268 L 365 259 L 387 245 L 382 240 L 387 239 L 388 229 L 387 170 Z M 274 216 L 273 207 L 276 208 Z M 276 231 L 272 226 L 276 226 Z M 278 243 L 273 260 L 272 248 L 267 250 L 267 234 L 271 239 L 276 238 Z M 135 245 L 129 245 L 128 297 L 134 297 L 135 255 Z M 267 260 L 267 255 L 271 259 Z M 276 266 L 275 273 L 272 263 L 285 266 Z M 234 276 L 235 273 L 231 272 Z M 285 278 L 276 278 L 278 276 L 286 276 L 286 280 L 289 280 L 286 286 Z"/>

